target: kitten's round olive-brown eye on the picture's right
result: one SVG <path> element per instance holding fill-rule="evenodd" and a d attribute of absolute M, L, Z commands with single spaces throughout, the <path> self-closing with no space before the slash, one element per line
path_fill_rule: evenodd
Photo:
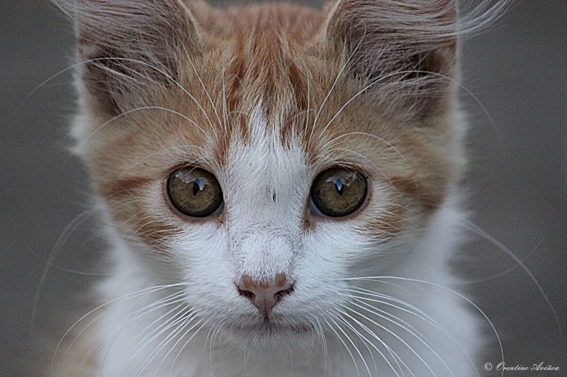
<path fill-rule="evenodd" d="M 330 217 L 352 214 L 366 199 L 366 179 L 354 170 L 332 168 L 313 181 L 311 200 L 315 207 Z"/>

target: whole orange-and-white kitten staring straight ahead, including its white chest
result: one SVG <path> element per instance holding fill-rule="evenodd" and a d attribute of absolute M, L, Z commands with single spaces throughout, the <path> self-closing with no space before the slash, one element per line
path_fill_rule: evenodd
<path fill-rule="evenodd" d="M 455 0 L 60 1 L 111 243 L 53 376 L 477 376 Z"/>

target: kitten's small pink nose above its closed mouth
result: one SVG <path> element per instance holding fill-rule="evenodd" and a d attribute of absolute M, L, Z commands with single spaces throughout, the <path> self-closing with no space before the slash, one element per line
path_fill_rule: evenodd
<path fill-rule="evenodd" d="M 238 284 L 238 293 L 252 301 L 264 318 L 269 317 L 271 310 L 283 296 L 292 292 L 293 285 L 288 283 L 285 274 L 277 274 L 276 279 L 265 283 L 254 282 L 251 277 L 245 275 Z"/>

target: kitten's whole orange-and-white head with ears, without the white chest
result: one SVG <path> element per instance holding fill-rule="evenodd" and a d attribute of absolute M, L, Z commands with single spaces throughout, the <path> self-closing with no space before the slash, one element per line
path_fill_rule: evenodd
<path fill-rule="evenodd" d="M 235 334 L 332 318 L 345 279 L 399 265 L 459 176 L 452 1 L 74 11 L 95 190 L 148 273 Z"/>

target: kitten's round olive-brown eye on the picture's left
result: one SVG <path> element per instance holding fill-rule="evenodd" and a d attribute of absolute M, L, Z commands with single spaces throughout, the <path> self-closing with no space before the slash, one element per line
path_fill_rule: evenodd
<path fill-rule="evenodd" d="M 210 216 L 223 204 L 218 180 L 201 168 L 181 168 L 169 175 L 167 194 L 176 209 L 191 217 Z"/>

